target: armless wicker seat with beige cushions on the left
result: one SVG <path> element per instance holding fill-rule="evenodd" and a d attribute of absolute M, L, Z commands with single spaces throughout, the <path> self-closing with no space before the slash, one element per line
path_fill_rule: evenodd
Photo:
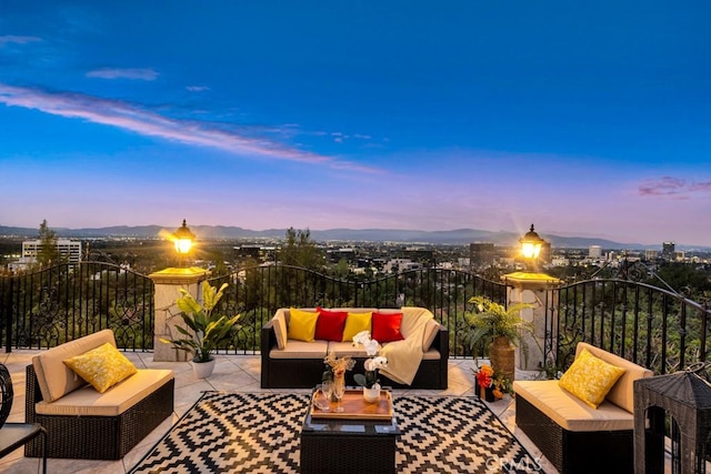
<path fill-rule="evenodd" d="M 103 393 L 70 369 L 67 361 L 76 362 L 82 376 L 91 379 Z M 111 330 L 32 357 L 32 364 L 27 366 L 24 418 L 47 430 L 49 457 L 120 460 L 171 415 L 173 372 L 131 367 L 130 361 L 116 350 Z M 114 383 L 120 377 L 123 380 Z M 24 454 L 41 456 L 41 442 L 27 444 Z"/>

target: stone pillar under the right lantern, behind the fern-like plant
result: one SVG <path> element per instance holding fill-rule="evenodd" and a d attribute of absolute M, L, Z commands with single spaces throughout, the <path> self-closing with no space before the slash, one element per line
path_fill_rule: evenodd
<path fill-rule="evenodd" d="M 507 303 L 508 305 L 523 303 L 533 307 L 521 310 L 521 319 L 533 323 L 533 334 L 524 335 L 529 346 L 528 363 L 520 346 L 515 350 L 517 367 L 524 371 L 537 371 L 544 366 L 545 354 L 543 346 L 545 342 L 545 311 L 554 304 L 553 297 L 557 293 L 550 291 L 560 285 L 561 281 L 545 273 L 514 272 L 502 276 L 509 285 Z M 547 306 L 548 305 L 548 306 Z M 550 324 L 550 322 L 549 322 Z M 538 341 L 538 342 L 537 342 Z"/>

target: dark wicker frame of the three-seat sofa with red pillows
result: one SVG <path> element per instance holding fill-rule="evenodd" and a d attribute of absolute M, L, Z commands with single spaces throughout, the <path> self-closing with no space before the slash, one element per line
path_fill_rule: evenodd
<path fill-rule="evenodd" d="M 270 320 L 261 334 L 261 387 L 262 389 L 312 389 L 321 382 L 323 359 L 271 359 L 270 351 L 277 346 L 277 334 Z M 381 384 L 393 389 L 445 390 L 449 383 L 449 331 L 440 326 L 432 342 L 440 353 L 438 360 L 422 360 L 411 385 L 402 385 L 380 374 Z M 356 385 L 353 374 L 363 372 L 365 357 L 356 357 L 356 367 L 346 373 L 346 384 Z"/>

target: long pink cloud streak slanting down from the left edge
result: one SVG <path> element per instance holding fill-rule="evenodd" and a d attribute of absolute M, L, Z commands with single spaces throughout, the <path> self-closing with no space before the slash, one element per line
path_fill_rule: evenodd
<path fill-rule="evenodd" d="M 146 137 L 219 149 L 240 157 L 258 155 L 274 160 L 323 164 L 334 169 L 380 172 L 374 168 L 301 151 L 268 139 L 256 139 L 231 130 L 221 130 L 210 123 L 170 119 L 126 102 L 91 95 L 51 93 L 0 83 L 0 103 L 40 110 L 53 115 L 84 119 Z"/>

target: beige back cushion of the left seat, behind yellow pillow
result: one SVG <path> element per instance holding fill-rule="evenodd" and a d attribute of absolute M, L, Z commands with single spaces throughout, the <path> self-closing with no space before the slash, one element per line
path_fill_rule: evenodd
<path fill-rule="evenodd" d="M 53 402 L 86 385 L 87 382 L 76 376 L 74 372 L 63 361 L 74 355 L 83 354 L 107 342 L 116 346 L 111 330 L 99 331 L 74 341 L 66 342 L 57 347 L 42 351 L 32 357 L 32 366 L 37 374 L 37 383 L 40 386 L 42 400 Z"/>

